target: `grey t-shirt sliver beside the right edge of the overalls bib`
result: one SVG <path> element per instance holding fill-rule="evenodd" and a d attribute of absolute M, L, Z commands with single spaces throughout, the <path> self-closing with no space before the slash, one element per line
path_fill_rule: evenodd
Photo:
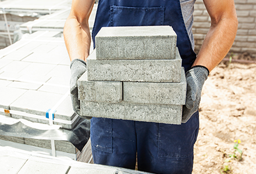
<path fill-rule="evenodd" d="M 180 0 L 180 6 L 182 8 L 182 15 L 185 26 L 187 28 L 187 34 L 189 34 L 190 42 L 192 48 L 194 49 L 194 37 L 192 33 L 192 26 L 193 26 L 193 12 L 194 12 L 194 3 L 196 0 Z"/>

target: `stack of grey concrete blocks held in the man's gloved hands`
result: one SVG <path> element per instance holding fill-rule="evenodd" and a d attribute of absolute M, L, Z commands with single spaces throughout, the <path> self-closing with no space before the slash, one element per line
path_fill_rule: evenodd
<path fill-rule="evenodd" d="M 169 26 L 103 27 L 79 79 L 81 115 L 181 124 L 186 78 Z"/>

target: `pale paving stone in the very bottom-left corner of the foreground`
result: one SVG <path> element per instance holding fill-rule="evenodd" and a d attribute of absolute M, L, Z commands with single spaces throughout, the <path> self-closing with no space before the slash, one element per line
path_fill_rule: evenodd
<path fill-rule="evenodd" d="M 22 166 L 24 165 L 24 163 L 26 161 L 27 161 L 27 159 L 21 159 L 21 158 L 8 157 L 6 155 L 1 155 L 1 158 L 0 158 L 1 173 L 16 174 L 17 172 L 19 172 L 20 168 L 22 168 Z"/>

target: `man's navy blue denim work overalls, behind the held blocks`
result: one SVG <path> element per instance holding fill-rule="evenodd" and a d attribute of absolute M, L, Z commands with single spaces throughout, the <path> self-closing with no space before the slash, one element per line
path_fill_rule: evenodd
<path fill-rule="evenodd" d="M 196 55 L 183 21 L 180 0 L 99 0 L 92 37 L 95 41 L 101 27 L 162 25 L 175 30 L 182 66 L 189 70 Z M 198 112 L 182 125 L 92 118 L 94 163 L 134 169 L 137 152 L 140 171 L 191 173 L 198 129 Z"/>

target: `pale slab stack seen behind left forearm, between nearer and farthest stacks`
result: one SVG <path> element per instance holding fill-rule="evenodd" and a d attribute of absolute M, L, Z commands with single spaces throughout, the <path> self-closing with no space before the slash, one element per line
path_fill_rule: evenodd
<path fill-rule="evenodd" d="M 91 16 L 89 17 L 90 30 L 93 30 L 97 6 L 98 4 L 94 4 L 94 8 L 91 12 Z M 69 16 L 69 13 L 70 13 L 70 8 L 60 10 L 58 12 L 42 16 L 38 20 L 24 23 L 20 26 L 20 29 L 22 30 L 22 32 L 27 32 L 27 31 L 34 32 L 34 31 L 42 31 L 42 30 L 63 32 L 63 27 L 65 25 L 67 16 Z"/>

